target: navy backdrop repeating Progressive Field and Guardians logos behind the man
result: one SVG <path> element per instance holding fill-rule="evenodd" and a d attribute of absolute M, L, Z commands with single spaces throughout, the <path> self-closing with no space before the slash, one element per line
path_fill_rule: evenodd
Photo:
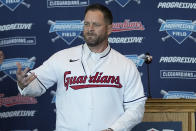
<path fill-rule="evenodd" d="M 55 90 L 20 96 L 16 65 L 38 67 L 53 53 L 84 43 L 85 7 L 101 3 L 113 12 L 110 45 L 132 59 L 148 95 L 145 53 L 153 98 L 167 91 L 196 92 L 195 0 L 0 0 L 0 131 L 55 130 Z M 74 52 L 73 52 L 74 53 Z M 66 56 L 65 56 L 66 57 Z"/>

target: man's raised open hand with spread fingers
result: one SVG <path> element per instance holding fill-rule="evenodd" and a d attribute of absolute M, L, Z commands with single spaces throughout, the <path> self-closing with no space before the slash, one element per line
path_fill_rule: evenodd
<path fill-rule="evenodd" d="M 27 72 L 29 71 L 28 67 L 22 71 L 21 64 L 17 62 L 16 65 L 18 67 L 16 71 L 18 86 L 21 89 L 24 89 L 29 83 L 31 83 L 36 78 L 36 75 L 34 73 L 27 75 Z"/>

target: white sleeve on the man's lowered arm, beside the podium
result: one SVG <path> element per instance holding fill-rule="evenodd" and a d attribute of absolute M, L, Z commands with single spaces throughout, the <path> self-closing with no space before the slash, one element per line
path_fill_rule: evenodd
<path fill-rule="evenodd" d="M 140 74 L 134 63 L 128 65 L 125 73 L 124 114 L 110 127 L 115 131 L 128 131 L 140 123 L 145 110 L 144 89 Z"/>

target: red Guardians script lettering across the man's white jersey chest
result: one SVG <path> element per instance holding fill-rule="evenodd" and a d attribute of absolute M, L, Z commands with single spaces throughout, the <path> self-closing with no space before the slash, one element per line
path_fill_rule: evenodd
<path fill-rule="evenodd" d="M 103 75 L 103 72 L 96 72 L 95 75 L 85 76 L 71 76 L 71 71 L 64 73 L 64 86 L 66 90 L 71 87 L 74 90 L 83 88 L 96 88 L 96 87 L 114 87 L 121 88 L 119 76 Z"/>

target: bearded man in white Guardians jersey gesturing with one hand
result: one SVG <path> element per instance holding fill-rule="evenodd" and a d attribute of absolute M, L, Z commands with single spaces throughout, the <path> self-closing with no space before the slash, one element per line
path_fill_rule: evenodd
<path fill-rule="evenodd" d="M 28 73 L 17 63 L 22 95 L 40 96 L 57 83 L 56 131 L 130 131 L 145 99 L 134 63 L 111 49 L 112 14 L 93 4 L 84 18 L 85 44 L 61 50 Z"/>

